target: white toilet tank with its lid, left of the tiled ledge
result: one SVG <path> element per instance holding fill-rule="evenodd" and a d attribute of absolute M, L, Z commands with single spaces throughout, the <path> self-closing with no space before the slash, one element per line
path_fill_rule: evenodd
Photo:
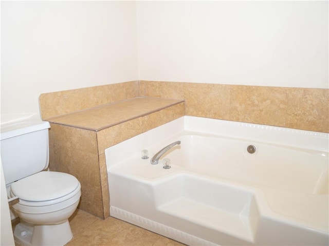
<path fill-rule="evenodd" d="M 1 126 L 1 160 L 6 185 L 48 168 L 48 128 L 50 124 L 46 121 Z"/>

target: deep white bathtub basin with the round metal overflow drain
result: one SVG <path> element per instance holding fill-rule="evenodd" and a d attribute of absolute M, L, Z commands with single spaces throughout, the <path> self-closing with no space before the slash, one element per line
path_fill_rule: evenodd
<path fill-rule="evenodd" d="M 322 151 L 196 134 L 179 140 L 180 150 L 173 149 L 165 156 L 173 165 L 244 184 L 328 194 L 328 159 Z M 255 146 L 255 153 L 247 152 L 249 145 Z M 213 170 L 220 172 L 214 174 Z"/>

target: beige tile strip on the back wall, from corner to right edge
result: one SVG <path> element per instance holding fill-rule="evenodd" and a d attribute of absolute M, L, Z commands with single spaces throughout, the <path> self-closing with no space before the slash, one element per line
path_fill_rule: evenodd
<path fill-rule="evenodd" d="M 329 133 L 329 90 L 140 81 L 140 96 L 185 99 L 186 115 Z"/>

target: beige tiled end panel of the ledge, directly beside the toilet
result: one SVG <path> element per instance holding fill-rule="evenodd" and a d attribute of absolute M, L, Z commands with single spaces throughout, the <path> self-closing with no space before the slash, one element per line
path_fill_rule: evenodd
<path fill-rule="evenodd" d="M 80 209 L 100 218 L 102 204 L 101 177 L 96 132 L 50 124 L 49 168 L 74 175 L 81 183 Z"/>

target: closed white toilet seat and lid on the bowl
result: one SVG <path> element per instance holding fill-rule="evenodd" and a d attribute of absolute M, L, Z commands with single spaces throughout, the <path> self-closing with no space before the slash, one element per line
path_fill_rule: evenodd
<path fill-rule="evenodd" d="M 47 206 L 63 202 L 80 193 L 80 182 L 70 174 L 40 172 L 11 184 L 11 195 L 26 206 Z"/>

